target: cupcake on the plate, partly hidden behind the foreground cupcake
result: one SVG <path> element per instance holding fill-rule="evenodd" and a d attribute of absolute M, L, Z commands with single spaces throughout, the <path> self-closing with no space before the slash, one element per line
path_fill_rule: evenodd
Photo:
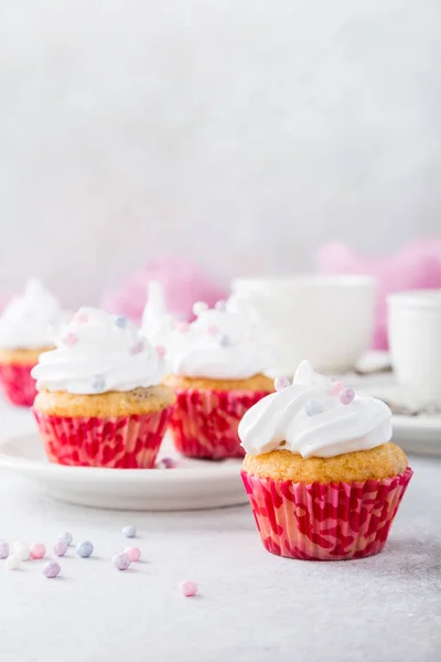
<path fill-rule="evenodd" d="M 170 429 L 178 450 L 192 458 L 243 457 L 240 418 L 272 392 L 263 374 L 273 363 L 256 322 L 218 302 L 195 303 L 196 320 L 178 323 L 168 334 L 171 374 L 165 383 L 176 395 Z"/>

